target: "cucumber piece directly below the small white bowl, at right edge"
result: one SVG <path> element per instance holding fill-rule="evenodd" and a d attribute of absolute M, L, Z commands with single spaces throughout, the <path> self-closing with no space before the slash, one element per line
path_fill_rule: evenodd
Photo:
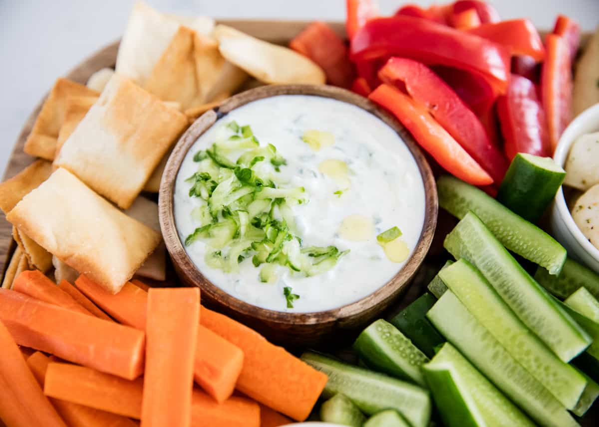
<path fill-rule="evenodd" d="M 599 299 L 599 274 L 571 258 L 565 260 L 564 268 L 559 276 L 553 276 L 547 273 L 547 270 L 539 267 L 534 274 L 534 279 L 547 291 L 562 300 L 568 298 L 582 286 Z"/>

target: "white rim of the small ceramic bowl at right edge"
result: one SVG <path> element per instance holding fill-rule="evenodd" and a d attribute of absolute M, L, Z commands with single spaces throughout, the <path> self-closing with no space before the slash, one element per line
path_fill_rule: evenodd
<path fill-rule="evenodd" d="M 571 145 L 580 136 L 579 133 L 574 132 L 574 130 L 581 122 L 586 123 L 587 121 L 593 120 L 597 121 L 597 126 L 599 128 L 599 103 L 596 103 L 595 105 L 585 109 L 585 111 L 577 115 L 574 120 L 572 120 L 565 128 L 564 132 L 559 138 L 555 152 L 553 153 L 553 160 L 555 163 L 561 167 L 564 167 L 565 161 L 570 153 Z M 572 213 L 570 212 L 570 209 L 568 209 L 568 205 L 565 202 L 563 185 L 559 186 L 558 193 L 555 195 L 555 205 L 562 222 L 564 222 L 565 227 L 568 229 L 568 231 L 570 231 L 570 234 L 574 237 L 574 239 L 576 239 L 576 242 L 582 246 L 582 248 L 585 249 L 585 251 L 591 255 L 591 257 L 599 262 L 599 249 L 595 248 L 595 246 L 593 246 L 592 243 L 586 239 L 585 235 L 582 233 L 582 231 L 580 231 L 578 225 L 576 225 L 576 222 L 574 222 Z"/>

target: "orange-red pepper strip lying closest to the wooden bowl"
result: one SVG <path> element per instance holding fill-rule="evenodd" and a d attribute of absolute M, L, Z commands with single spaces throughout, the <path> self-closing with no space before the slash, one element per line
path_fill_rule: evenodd
<path fill-rule="evenodd" d="M 473 185 L 493 182 L 493 178 L 432 118 L 426 108 L 401 90 L 382 84 L 368 98 L 391 111 L 412 133 L 416 142 L 448 172 Z"/>

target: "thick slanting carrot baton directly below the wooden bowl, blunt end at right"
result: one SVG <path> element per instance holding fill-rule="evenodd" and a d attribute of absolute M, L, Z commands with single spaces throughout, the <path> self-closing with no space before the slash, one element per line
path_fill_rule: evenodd
<path fill-rule="evenodd" d="M 202 307 L 201 323 L 244 352 L 237 389 L 295 420 L 305 420 L 328 377 L 256 331 Z"/>

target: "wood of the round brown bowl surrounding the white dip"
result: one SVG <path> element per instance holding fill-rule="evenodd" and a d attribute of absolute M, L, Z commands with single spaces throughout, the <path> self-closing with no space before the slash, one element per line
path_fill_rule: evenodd
<path fill-rule="evenodd" d="M 288 313 L 267 310 L 253 306 L 226 293 L 218 286 L 207 280 L 195 264 L 187 256 L 179 234 L 175 227 L 173 213 L 173 194 L 177 173 L 189 148 L 198 137 L 209 129 L 217 120 L 229 111 L 241 105 L 265 97 L 282 94 L 316 95 L 334 98 L 351 103 L 376 115 L 391 126 L 406 143 L 418 164 L 420 175 L 425 187 L 425 218 L 420 239 L 409 260 L 381 288 L 355 303 L 347 304 L 337 309 L 314 313 Z M 181 136 L 173 153 L 168 159 L 167 167 L 162 176 L 159 193 L 159 216 L 162 234 L 167 244 L 168 252 L 179 274 L 181 281 L 187 286 L 199 286 L 202 290 L 202 303 L 213 307 L 226 315 L 242 322 L 265 335 L 274 343 L 286 346 L 308 346 L 322 343 L 338 333 L 364 327 L 385 310 L 392 301 L 406 290 L 410 279 L 422 263 L 432 242 L 437 224 L 437 187 L 431 169 L 424 155 L 416 146 L 412 136 L 394 117 L 378 108 L 369 100 L 350 91 L 331 86 L 285 85 L 264 86 L 235 95 L 226 100 L 214 110 L 205 112 L 199 117 L 186 133 Z M 343 334 L 341 334 L 343 335 Z"/>

